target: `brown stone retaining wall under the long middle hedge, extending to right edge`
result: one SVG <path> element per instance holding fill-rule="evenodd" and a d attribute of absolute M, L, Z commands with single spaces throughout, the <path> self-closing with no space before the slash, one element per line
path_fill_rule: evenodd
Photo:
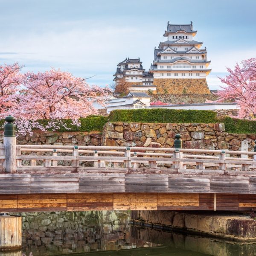
<path fill-rule="evenodd" d="M 228 134 L 224 123 L 128 123 L 105 125 L 102 145 L 172 148 L 175 134 L 182 135 L 184 148 L 240 150 L 241 141 L 253 149 L 256 134 Z"/>

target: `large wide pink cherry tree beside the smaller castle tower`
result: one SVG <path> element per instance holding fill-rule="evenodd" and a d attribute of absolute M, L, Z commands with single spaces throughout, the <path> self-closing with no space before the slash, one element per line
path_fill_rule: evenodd
<path fill-rule="evenodd" d="M 61 70 L 25 73 L 18 96 L 18 116 L 26 119 L 79 119 L 97 114 L 93 102 L 104 105 L 108 87 L 90 87 L 80 77 Z"/>

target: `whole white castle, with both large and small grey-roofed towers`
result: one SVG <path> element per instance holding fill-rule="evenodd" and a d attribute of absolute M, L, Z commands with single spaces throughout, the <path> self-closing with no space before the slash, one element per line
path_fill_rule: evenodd
<path fill-rule="evenodd" d="M 210 61 L 206 48 L 200 49 L 202 42 L 193 40 L 197 31 L 192 22 L 187 25 L 167 23 L 164 32 L 166 41 L 154 49 L 154 61 L 148 72 L 143 69 L 140 58 L 126 58 L 117 65 L 116 84 L 126 81 L 130 90 L 158 93 L 210 93 L 206 76 Z"/>

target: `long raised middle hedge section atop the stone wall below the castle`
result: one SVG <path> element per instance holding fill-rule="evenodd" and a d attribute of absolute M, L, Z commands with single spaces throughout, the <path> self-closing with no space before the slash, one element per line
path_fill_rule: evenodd
<path fill-rule="evenodd" d="M 159 123 L 214 123 L 217 113 L 208 110 L 176 110 L 166 108 L 114 110 L 109 115 L 110 122 L 159 122 Z"/>

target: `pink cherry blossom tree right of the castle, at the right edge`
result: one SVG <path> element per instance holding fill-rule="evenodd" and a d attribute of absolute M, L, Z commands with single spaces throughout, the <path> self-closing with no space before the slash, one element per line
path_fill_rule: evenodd
<path fill-rule="evenodd" d="M 250 58 L 236 64 L 234 70 L 227 68 L 229 75 L 220 78 L 226 87 L 218 91 L 218 101 L 237 102 L 240 107 L 238 117 L 255 119 L 256 117 L 256 58 Z"/>

